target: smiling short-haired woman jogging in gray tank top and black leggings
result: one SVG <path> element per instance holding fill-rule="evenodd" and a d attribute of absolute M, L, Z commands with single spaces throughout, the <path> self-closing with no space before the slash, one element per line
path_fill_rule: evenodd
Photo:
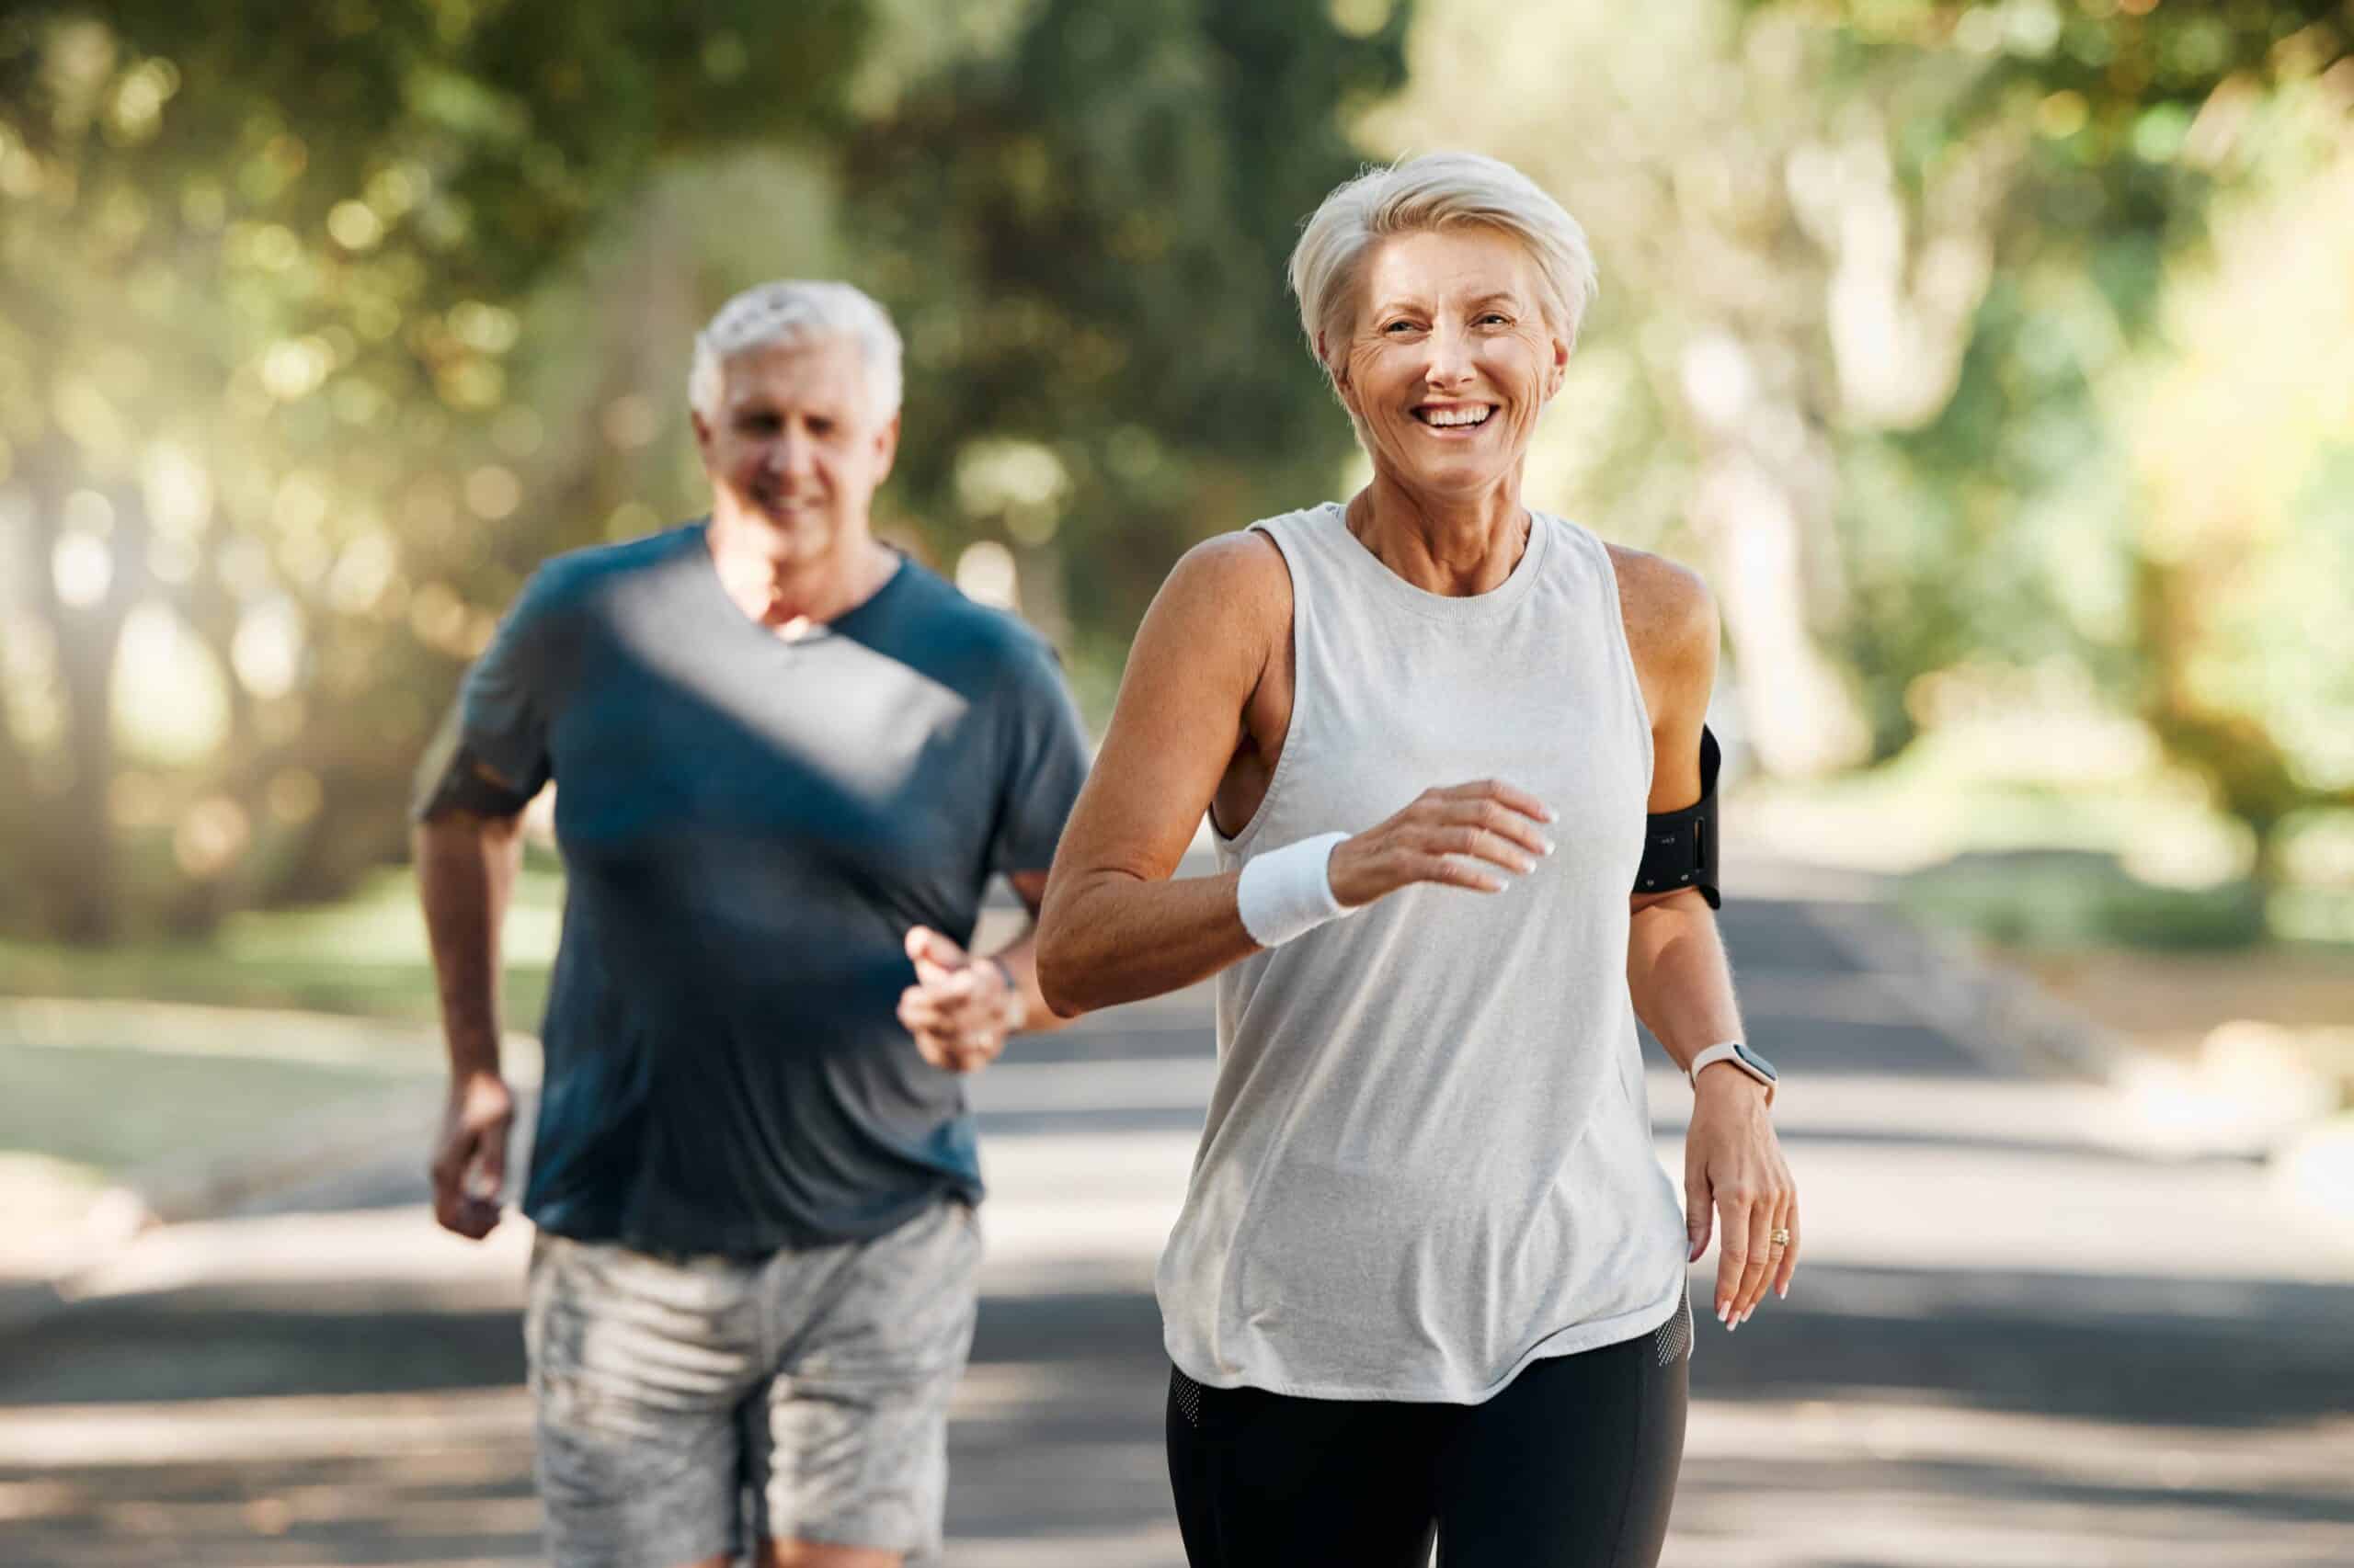
<path fill-rule="evenodd" d="M 1728 1328 L 1798 1257 L 1711 913 L 1716 610 L 1521 499 L 1594 294 L 1523 174 L 1375 170 L 1290 280 L 1372 483 L 1170 572 L 1038 932 L 1066 1015 L 1217 975 L 1158 1274 L 1186 1554 L 1653 1563 L 1711 1208 Z M 1203 810 L 1222 873 L 1172 878 Z M 1693 1076 L 1688 1224 L 1638 1015 Z"/>

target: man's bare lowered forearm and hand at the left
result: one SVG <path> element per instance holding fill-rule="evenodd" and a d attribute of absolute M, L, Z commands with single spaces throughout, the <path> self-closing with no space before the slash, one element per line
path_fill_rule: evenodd
<path fill-rule="evenodd" d="M 480 1241 L 499 1224 L 516 1097 L 499 1067 L 499 928 L 523 862 L 520 817 L 440 810 L 417 824 L 417 892 L 433 946 L 450 1104 L 433 1149 L 433 1217 Z"/>

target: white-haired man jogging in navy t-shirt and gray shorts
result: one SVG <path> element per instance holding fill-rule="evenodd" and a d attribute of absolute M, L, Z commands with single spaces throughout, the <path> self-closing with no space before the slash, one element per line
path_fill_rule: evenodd
<path fill-rule="evenodd" d="M 687 381 L 711 516 L 548 560 L 426 758 L 435 1217 L 499 1222 L 499 923 L 548 779 L 565 930 L 523 1212 L 556 1561 L 932 1561 L 982 1196 L 960 1074 L 1050 1026 L 1031 942 L 1088 751 L 1052 652 L 878 544 L 899 337 L 749 290 Z"/>

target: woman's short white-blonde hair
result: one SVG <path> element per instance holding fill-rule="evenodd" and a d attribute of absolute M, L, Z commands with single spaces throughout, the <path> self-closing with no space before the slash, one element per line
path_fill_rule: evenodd
<path fill-rule="evenodd" d="M 1365 170 L 1323 198 L 1292 247 L 1292 294 L 1309 353 L 1330 374 L 1356 325 L 1365 252 L 1398 233 L 1481 224 L 1528 247 L 1537 264 L 1547 325 L 1570 346 L 1601 287 L 1577 219 L 1521 170 L 1481 153 L 1424 153 Z M 1321 339 L 1321 341 L 1318 341 Z"/>

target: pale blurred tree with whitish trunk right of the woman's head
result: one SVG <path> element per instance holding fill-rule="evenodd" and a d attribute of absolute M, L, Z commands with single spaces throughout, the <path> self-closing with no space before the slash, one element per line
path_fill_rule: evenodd
<path fill-rule="evenodd" d="M 1838 662 L 1853 589 L 1834 532 L 1843 421 L 1942 398 L 1984 287 L 1975 170 L 1942 186 L 1914 264 L 1864 125 L 1827 113 L 1796 24 L 1723 0 L 1530 14 L 1424 12 L 1382 148 L 1474 146 L 1587 226 L 1603 297 L 1532 454 L 1532 497 L 1629 544 L 1702 556 L 1742 730 L 1782 775 L 1855 763 L 1869 732 Z M 1829 344 L 1864 320 L 1871 379 Z"/>

